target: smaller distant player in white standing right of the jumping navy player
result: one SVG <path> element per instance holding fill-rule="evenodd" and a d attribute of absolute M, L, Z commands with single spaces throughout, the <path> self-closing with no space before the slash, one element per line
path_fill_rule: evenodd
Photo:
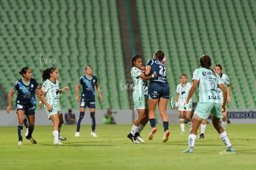
<path fill-rule="evenodd" d="M 187 99 L 187 95 L 189 94 L 189 90 L 192 86 L 192 83 L 187 82 L 187 75 L 182 74 L 179 76 L 179 79 L 181 81 L 180 84 L 177 85 L 176 92 L 176 110 L 179 111 L 180 114 L 180 124 L 181 124 L 181 134 L 185 134 L 185 121 L 184 121 L 184 115 L 186 113 L 186 119 L 187 123 L 189 124 L 189 131 L 191 129 L 191 110 L 192 110 L 192 99 L 189 100 L 189 103 L 187 103 L 186 108 L 184 108 L 184 102 Z"/>

